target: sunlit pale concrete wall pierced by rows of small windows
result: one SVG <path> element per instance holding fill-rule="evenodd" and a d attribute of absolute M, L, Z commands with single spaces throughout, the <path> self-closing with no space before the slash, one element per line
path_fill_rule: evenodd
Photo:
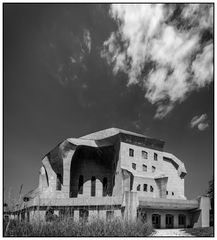
<path fill-rule="evenodd" d="M 134 150 L 134 156 L 129 156 L 129 149 Z M 147 159 L 142 157 L 142 151 L 147 152 Z M 154 160 L 154 154 L 157 154 L 157 160 Z M 155 193 L 139 193 L 140 195 L 150 195 L 153 197 L 159 197 L 159 189 L 157 187 L 154 178 L 157 176 L 165 175 L 168 176 L 167 191 L 168 195 L 166 198 L 170 199 L 185 199 L 184 196 L 184 179 L 181 179 L 177 169 L 171 162 L 163 160 L 164 152 L 157 151 L 154 149 L 149 149 L 145 147 L 140 147 L 132 145 L 129 143 L 120 144 L 120 161 L 121 167 L 128 169 L 134 175 L 134 185 L 133 188 L 136 190 L 138 184 L 147 183 L 153 185 L 156 189 Z M 133 169 L 132 163 L 136 164 L 136 170 Z M 143 165 L 147 166 L 147 171 L 143 171 Z M 152 172 L 152 167 L 155 167 L 155 171 Z M 137 176 L 137 177 L 136 177 Z M 144 179 L 142 179 L 144 178 Z M 172 195 L 172 192 L 174 195 Z"/>

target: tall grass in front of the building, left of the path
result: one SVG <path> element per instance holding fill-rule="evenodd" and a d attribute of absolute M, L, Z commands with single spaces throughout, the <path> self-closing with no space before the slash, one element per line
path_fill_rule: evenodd
<path fill-rule="evenodd" d="M 4 236 L 13 237 L 142 237 L 152 233 L 152 227 L 141 221 L 123 222 L 121 219 L 74 222 L 70 219 L 30 224 L 10 220 L 4 223 Z"/>

